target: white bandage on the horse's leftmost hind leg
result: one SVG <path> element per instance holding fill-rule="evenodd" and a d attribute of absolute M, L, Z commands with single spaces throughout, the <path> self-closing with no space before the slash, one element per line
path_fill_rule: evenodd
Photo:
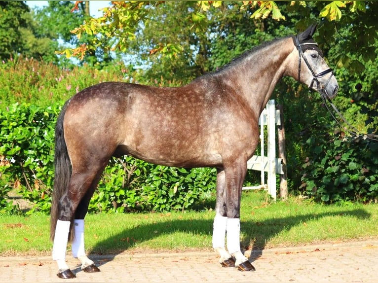
<path fill-rule="evenodd" d="M 66 250 L 70 225 L 70 221 L 58 220 L 55 228 L 52 259 L 56 260 L 58 268 L 63 270 L 69 269 L 68 265 L 66 264 Z"/>

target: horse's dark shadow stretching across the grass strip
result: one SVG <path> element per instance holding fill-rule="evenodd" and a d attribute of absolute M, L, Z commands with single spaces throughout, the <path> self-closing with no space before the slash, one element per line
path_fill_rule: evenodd
<path fill-rule="evenodd" d="M 265 249 L 265 243 L 274 238 L 277 234 L 284 230 L 290 230 L 291 228 L 302 224 L 317 220 L 328 216 L 353 216 L 357 219 L 367 219 L 371 217 L 371 214 L 363 209 L 345 210 L 338 212 L 324 212 L 314 213 L 309 212 L 299 216 L 288 217 L 274 217 L 263 222 L 256 221 L 243 221 L 241 219 L 241 233 L 244 235 L 241 243 L 241 248 L 253 249 L 253 255 L 251 253 L 250 261 L 253 262 L 262 255 L 262 251 Z M 117 252 L 113 255 L 107 256 L 107 261 L 113 260 L 115 255 L 126 251 L 129 248 L 133 248 L 137 242 L 149 241 L 153 238 L 161 235 L 172 234 L 175 232 L 189 233 L 193 237 L 201 237 L 201 235 L 212 235 L 213 220 L 167 220 L 158 222 L 155 224 L 141 224 L 132 229 L 125 229 L 122 232 L 109 237 L 108 239 L 97 243 L 90 253 L 102 254 L 104 252 L 103 247 L 109 247 L 116 245 Z M 245 236 L 246 235 L 246 236 Z M 125 241 L 122 239 L 128 239 Z M 254 243 L 254 247 L 250 247 L 250 243 Z M 211 244 L 210 244 L 211 245 Z M 211 247 L 209 247 L 211 248 Z M 105 262 L 99 262 L 101 266 Z"/>

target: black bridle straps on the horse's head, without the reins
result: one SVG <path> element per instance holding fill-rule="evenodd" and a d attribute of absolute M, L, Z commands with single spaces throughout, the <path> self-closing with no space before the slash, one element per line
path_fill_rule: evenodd
<path fill-rule="evenodd" d="M 332 76 L 334 75 L 333 70 L 331 68 L 328 68 L 327 70 L 321 71 L 318 74 L 315 74 L 315 72 L 312 70 L 310 64 L 308 63 L 307 58 L 303 54 L 302 46 L 304 45 L 318 45 L 315 42 L 304 42 L 300 43 L 297 36 L 294 36 L 295 42 L 296 42 L 296 47 L 298 49 L 298 80 L 301 81 L 301 59 L 303 58 L 304 62 L 307 65 L 307 68 L 311 71 L 312 74 L 312 81 L 311 84 L 309 85 L 310 88 L 312 88 L 312 85 L 314 82 L 316 82 L 316 89 L 320 93 L 320 95 L 323 98 L 330 97 L 329 94 L 327 93 L 326 87 L 328 83 L 330 82 Z M 328 73 L 331 73 L 330 77 L 328 78 L 327 82 L 325 83 L 324 87 L 322 87 L 322 83 L 318 80 L 318 78 L 325 76 Z"/>

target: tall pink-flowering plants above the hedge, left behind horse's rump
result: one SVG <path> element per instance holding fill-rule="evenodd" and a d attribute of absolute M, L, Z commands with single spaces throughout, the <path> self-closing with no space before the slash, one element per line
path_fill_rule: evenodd
<path fill-rule="evenodd" d="M 63 103 L 76 92 L 104 81 L 120 81 L 125 70 L 114 63 L 109 70 L 87 65 L 72 70 L 33 58 L 16 57 L 0 63 L 0 109 L 14 103 L 50 106 Z"/>

